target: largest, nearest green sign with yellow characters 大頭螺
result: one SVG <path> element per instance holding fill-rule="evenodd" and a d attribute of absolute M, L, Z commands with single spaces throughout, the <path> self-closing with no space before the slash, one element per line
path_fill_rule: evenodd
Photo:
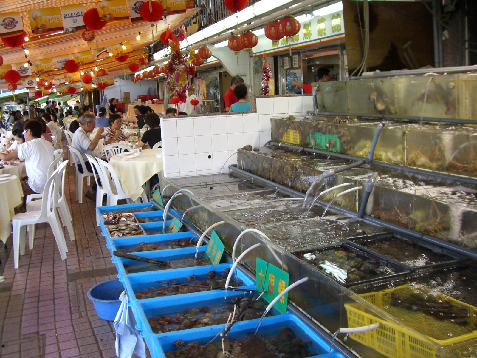
<path fill-rule="evenodd" d="M 288 287 L 289 274 L 280 270 L 277 266 L 263 261 L 257 257 L 257 290 L 267 291 L 262 297 L 270 303 L 281 291 Z M 288 293 L 283 295 L 274 305 L 280 313 L 287 313 Z"/>

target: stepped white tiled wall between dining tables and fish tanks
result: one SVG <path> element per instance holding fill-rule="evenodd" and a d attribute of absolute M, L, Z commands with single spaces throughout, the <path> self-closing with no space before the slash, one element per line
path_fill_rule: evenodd
<path fill-rule="evenodd" d="M 226 172 L 230 164 L 237 164 L 237 148 L 264 146 L 271 139 L 271 117 L 301 116 L 313 107 L 311 96 L 256 100 L 257 113 L 162 118 L 164 176 L 218 173 L 222 166 Z"/>

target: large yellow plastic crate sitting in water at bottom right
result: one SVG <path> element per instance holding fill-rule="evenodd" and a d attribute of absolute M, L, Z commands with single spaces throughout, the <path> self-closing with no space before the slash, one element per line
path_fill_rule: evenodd
<path fill-rule="evenodd" d="M 385 321 L 382 318 L 375 317 L 372 314 L 365 312 L 365 308 L 362 305 L 345 304 L 344 307 L 347 312 L 348 327 L 367 326 L 376 322 L 380 324 L 377 329 L 363 333 L 354 333 L 350 335 L 350 338 L 353 338 L 354 340 L 366 345 L 367 347 L 371 347 L 390 358 L 435 358 L 438 349 L 437 345 L 446 347 L 451 344 L 477 337 L 477 330 L 465 332 L 465 329 L 461 326 L 451 322 L 439 321 L 432 316 L 423 315 L 422 312 L 411 311 L 400 307 L 390 308 L 391 292 L 393 290 L 402 291 L 408 288 L 407 285 L 403 285 L 383 292 L 373 292 L 360 296 L 373 305 L 384 309 L 390 315 L 395 316 L 396 319 L 404 317 L 403 324 L 406 325 L 406 323 L 410 322 L 414 327 L 407 328 L 398 326 L 394 323 Z M 448 301 L 452 305 L 456 305 L 460 308 L 467 308 L 469 320 L 474 324 L 477 323 L 476 307 L 467 305 L 464 302 L 457 301 L 454 298 L 444 295 L 440 295 L 439 299 Z M 437 322 L 433 322 L 434 320 Z M 413 329 L 422 332 L 423 335 L 436 342 L 436 345 L 419 337 Z M 436 336 L 438 337 L 439 335 L 442 335 L 442 332 L 447 332 L 450 329 L 456 332 L 456 337 L 450 337 L 447 339 L 435 338 Z"/>

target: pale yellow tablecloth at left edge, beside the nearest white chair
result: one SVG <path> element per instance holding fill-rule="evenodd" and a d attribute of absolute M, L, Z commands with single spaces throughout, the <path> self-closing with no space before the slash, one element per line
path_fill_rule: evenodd
<path fill-rule="evenodd" d="M 6 242 L 11 232 L 11 219 L 15 215 L 14 208 L 23 202 L 23 191 L 17 176 L 0 178 L 0 240 Z M 6 211 L 8 210 L 8 215 Z"/>

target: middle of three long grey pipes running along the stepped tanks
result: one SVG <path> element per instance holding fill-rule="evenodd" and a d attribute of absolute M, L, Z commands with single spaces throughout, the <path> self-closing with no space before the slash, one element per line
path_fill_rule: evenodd
<path fill-rule="evenodd" d="M 308 152 L 308 153 L 313 153 L 313 154 L 321 154 L 321 155 L 325 155 L 325 156 L 329 156 L 329 157 L 346 159 L 346 160 L 358 161 L 358 160 L 363 159 L 363 158 L 353 157 L 353 156 L 350 156 L 350 155 L 347 155 L 347 154 L 329 152 L 329 151 L 321 150 L 321 149 L 298 147 L 298 146 L 294 146 L 294 145 L 291 145 L 291 144 L 284 144 L 284 143 L 278 143 L 278 142 L 270 142 L 270 145 L 271 146 L 285 147 L 285 148 L 292 149 L 292 150 L 300 150 L 300 151 L 303 151 L 303 152 Z M 375 165 L 377 167 L 383 167 L 383 168 L 388 168 L 388 169 L 395 169 L 395 170 L 405 171 L 405 172 L 413 173 L 413 174 L 428 175 L 430 177 L 435 177 L 435 178 L 439 178 L 439 179 L 447 179 L 447 180 L 452 180 L 452 181 L 458 181 L 460 183 L 477 185 L 477 179 L 472 179 L 472 178 L 468 178 L 468 177 L 460 177 L 458 175 L 437 173 L 435 171 L 428 171 L 428 170 L 423 170 L 423 169 L 403 167 L 403 166 L 400 166 L 400 165 L 384 163 L 384 162 L 380 162 L 380 161 L 376 161 L 376 160 L 373 160 L 373 165 Z"/>

